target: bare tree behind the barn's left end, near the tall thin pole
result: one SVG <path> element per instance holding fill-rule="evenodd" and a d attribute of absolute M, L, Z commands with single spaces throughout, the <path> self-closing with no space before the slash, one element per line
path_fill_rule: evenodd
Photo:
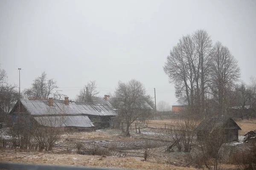
<path fill-rule="evenodd" d="M 41 76 L 35 78 L 31 88 L 23 91 L 24 96 L 29 99 L 48 99 L 58 88 L 56 82 L 54 79 L 48 79 L 44 71 Z"/>

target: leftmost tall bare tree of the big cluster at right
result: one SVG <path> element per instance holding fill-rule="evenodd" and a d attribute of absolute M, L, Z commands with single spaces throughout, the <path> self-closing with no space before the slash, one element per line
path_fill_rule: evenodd
<path fill-rule="evenodd" d="M 176 97 L 189 106 L 194 105 L 193 94 L 197 62 L 195 45 L 192 37 L 187 35 L 186 37 L 183 36 L 173 47 L 163 67 L 169 76 L 169 82 L 175 85 Z"/>

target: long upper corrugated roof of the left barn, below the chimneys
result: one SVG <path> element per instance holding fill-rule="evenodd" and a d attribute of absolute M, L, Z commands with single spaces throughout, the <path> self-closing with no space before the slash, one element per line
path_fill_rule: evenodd
<path fill-rule="evenodd" d="M 80 103 L 69 102 L 67 105 L 63 100 L 53 100 L 53 105 L 49 106 L 47 99 L 29 100 L 20 99 L 21 104 L 33 116 L 40 115 L 96 115 L 96 116 L 116 116 L 116 112 L 105 103 Z"/>

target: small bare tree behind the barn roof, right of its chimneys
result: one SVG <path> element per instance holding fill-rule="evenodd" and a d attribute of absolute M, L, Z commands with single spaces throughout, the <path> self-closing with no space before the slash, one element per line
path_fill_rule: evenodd
<path fill-rule="evenodd" d="M 97 91 L 96 81 L 90 81 L 87 85 L 84 86 L 83 90 L 80 91 L 78 95 L 76 95 L 77 102 L 93 102 L 92 97 L 99 94 Z"/>

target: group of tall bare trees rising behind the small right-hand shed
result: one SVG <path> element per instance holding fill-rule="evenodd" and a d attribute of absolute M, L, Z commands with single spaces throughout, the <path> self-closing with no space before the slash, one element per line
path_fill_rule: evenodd
<path fill-rule="evenodd" d="M 194 113 L 222 115 L 233 106 L 250 103 L 254 107 L 255 82 L 239 85 L 238 61 L 221 42 L 213 44 L 205 30 L 181 37 L 163 70 L 175 86 L 177 99 Z"/>

